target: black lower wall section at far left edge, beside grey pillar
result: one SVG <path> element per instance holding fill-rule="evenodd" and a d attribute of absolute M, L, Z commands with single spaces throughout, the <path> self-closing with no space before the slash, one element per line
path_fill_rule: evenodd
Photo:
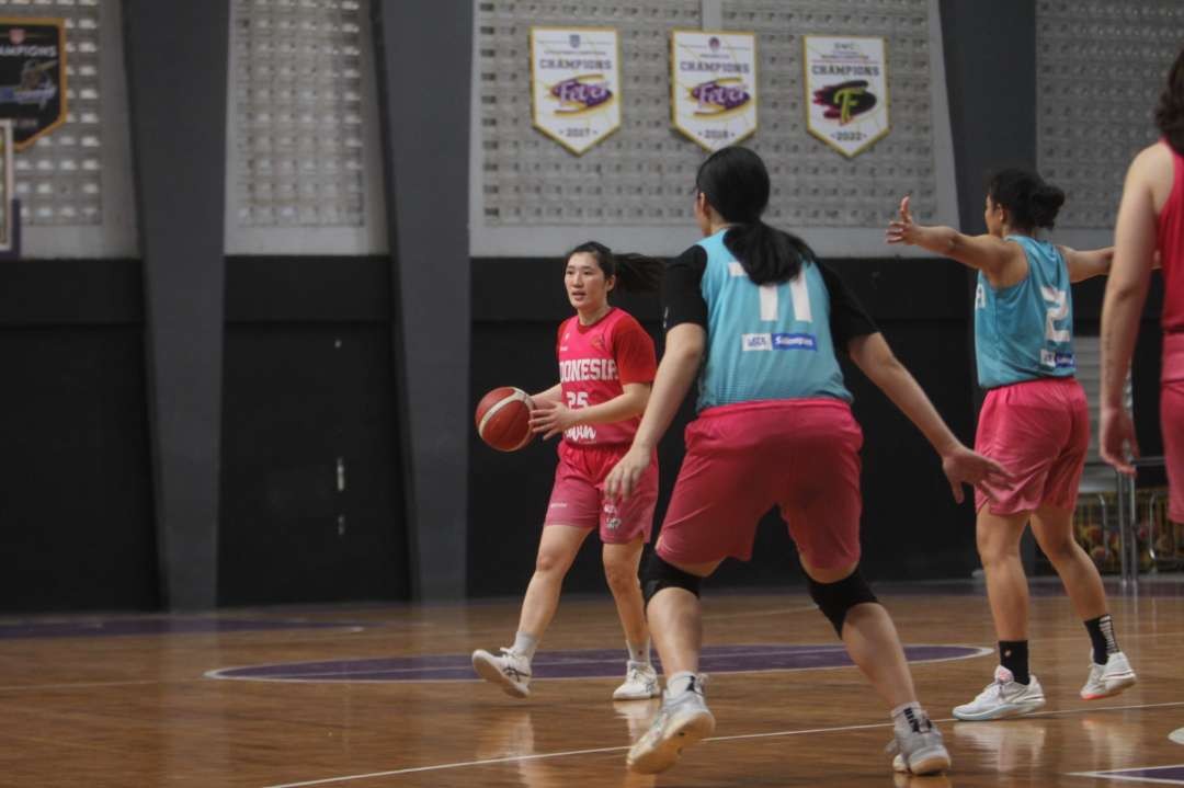
<path fill-rule="evenodd" d="M 4 261 L 0 359 L 0 611 L 157 607 L 139 261 Z"/>

